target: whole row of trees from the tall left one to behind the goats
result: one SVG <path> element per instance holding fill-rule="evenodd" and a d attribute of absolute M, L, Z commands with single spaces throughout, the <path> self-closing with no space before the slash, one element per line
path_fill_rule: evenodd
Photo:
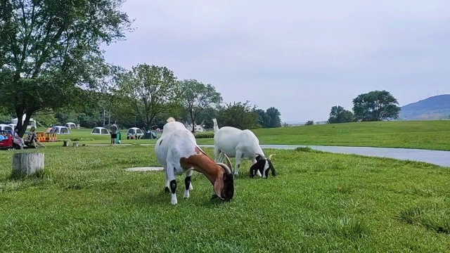
<path fill-rule="evenodd" d="M 281 126 L 276 108 L 224 103 L 212 84 L 179 80 L 167 67 L 126 70 L 105 63 L 101 44 L 124 40 L 133 20 L 124 0 L 3 1 L 0 8 L 0 121 L 30 117 L 43 126 L 162 127 L 172 116 L 189 124 L 240 129 Z M 65 11 L 55 11 L 65 10 Z"/>

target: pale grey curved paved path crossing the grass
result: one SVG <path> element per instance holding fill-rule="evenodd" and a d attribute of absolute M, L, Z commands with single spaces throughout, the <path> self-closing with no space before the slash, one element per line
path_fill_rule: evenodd
<path fill-rule="evenodd" d="M 199 144 L 200 145 L 200 144 Z M 214 148 L 214 145 L 200 145 L 200 147 Z M 412 148 L 372 148 L 372 147 L 345 147 L 320 145 L 261 145 L 261 148 L 295 149 L 309 147 L 330 153 L 365 155 L 373 157 L 388 157 L 398 160 L 411 160 L 428 162 L 442 167 L 450 167 L 450 151 L 422 150 Z"/>

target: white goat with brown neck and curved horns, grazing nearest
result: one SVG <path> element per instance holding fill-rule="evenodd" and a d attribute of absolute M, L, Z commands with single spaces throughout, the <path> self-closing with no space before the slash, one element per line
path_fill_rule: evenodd
<path fill-rule="evenodd" d="M 204 174 L 214 186 L 214 197 L 229 201 L 234 195 L 234 179 L 229 166 L 214 162 L 196 143 L 195 137 L 184 124 L 176 122 L 173 117 L 167 119 L 162 136 L 155 145 L 158 162 L 166 171 L 165 191 L 172 192 L 171 203 L 177 204 L 175 175 L 186 173 L 184 197 L 189 197 L 192 190 L 191 176 L 193 171 Z"/>

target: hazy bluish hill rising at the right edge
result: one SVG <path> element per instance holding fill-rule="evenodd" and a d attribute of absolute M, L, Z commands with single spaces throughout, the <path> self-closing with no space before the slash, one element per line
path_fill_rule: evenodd
<path fill-rule="evenodd" d="M 432 96 L 401 107 L 400 119 L 449 119 L 450 94 Z"/>

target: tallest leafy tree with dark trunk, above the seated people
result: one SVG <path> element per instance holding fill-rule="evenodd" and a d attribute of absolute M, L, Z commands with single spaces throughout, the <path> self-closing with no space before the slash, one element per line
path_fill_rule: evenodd
<path fill-rule="evenodd" d="M 39 110 L 77 98 L 104 74 L 101 44 L 124 39 L 124 0 L 0 0 L 0 98 L 20 136 Z"/>

